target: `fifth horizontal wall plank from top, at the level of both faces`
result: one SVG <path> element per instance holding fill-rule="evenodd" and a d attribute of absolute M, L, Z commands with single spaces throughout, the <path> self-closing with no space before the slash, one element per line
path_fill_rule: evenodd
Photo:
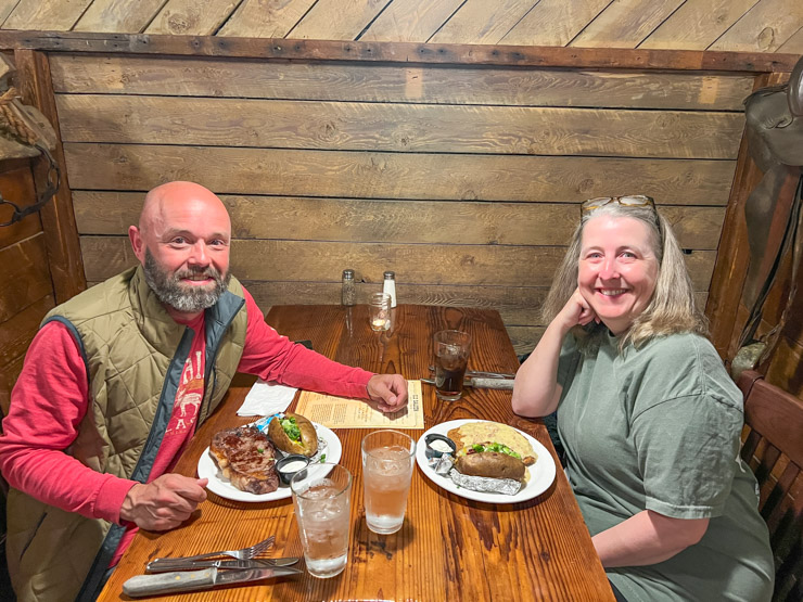
<path fill-rule="evenodd" d="M 127 238 L 81 238 L 87 280 L 103 280 L 136 264 Z M 419 284 L 549 286 L 565 253 L 558 246 L 418 245 L 238 240 L 232 244 L 231 269 L 243 280 L 340 281 L 352 267 L 375 274 L 377 266 L 393 266 L 397 278 Z M 686 256 L 694 287 L 708 290 L 715 253 Z"/>

